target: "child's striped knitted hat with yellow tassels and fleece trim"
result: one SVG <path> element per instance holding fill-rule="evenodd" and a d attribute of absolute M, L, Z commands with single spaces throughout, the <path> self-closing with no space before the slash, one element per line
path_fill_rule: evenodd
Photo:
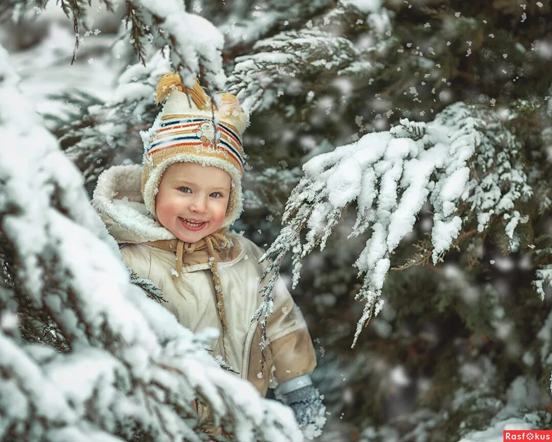
<path fill-rule="evenodd" d="M 163 172 L 176 162 L 195 162 L 228 172 L 232 181 L 222 227 L 240 216 L 245 164 L 241 136 L 249 118 L 232 94 L 220 93 L 217 97 L 218 107 L 197 80 L 190 89 L 177 73 L 158 77 L 155 101 L 166 101 L 152 127 L 140 132 L 144 143 L 142 197 L 154 216 L 157 186 Z"/>

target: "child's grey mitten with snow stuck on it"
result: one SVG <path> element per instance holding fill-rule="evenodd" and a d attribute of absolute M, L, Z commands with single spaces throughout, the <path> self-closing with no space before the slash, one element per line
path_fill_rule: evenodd
<path fill-rule="evenodd" d="M 326 423 L 326 407 L 317 388 L 306 385 L 288 392 L 277 390 L 277 398 L 293 410 L 295 419 L 307 439 L 322 434 L 322 427 Z"/>

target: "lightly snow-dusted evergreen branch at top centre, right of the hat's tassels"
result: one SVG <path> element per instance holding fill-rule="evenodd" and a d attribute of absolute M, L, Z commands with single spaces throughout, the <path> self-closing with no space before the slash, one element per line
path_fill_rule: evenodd
<path fill-rule="evenodd" d="M 272 107 L 283 94 L 304 95 L 309 90 L 327 88 L 323 78 L 335 80 L 344 74 L 369 75 L 376 70 L 373 52 L 382 41 L 392 41 L 381 31 L 390 29 L 389 17 L 380 6 L 363 10 L 357 2 L 336 5 L 300 29 L 284 30 L 257 41 L 249 54 L 236 57 L 228 78 L 229 91 L 250 112 Z M 360 10 L 359 10 L 360 9 Z M 338 29 L 357 20 L 373 27 L 373 43 L 367 48 L 355 45 Z M 378 19 L 379 18 L 379 19 Z M 337 35 L 336 35 L 337 34 Z M 312 84 L 311 78 L 317 78 Z M 309 89 L 304 88 L 308 85 Z"/>

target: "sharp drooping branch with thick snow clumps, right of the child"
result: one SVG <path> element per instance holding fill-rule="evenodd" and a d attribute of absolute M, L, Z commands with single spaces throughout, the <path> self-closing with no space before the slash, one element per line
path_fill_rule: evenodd
<path fill-rule="evenodd" d="M 302 259 L 317 246 L 323 250 L 343 210 L 355 202 L 357 219 L 349 238 L 369 230 L 371 236 L 355 262 L 363 278 L 355 299 L 365 306 L 353 346 L 365 323 L 383 307 L 380 294 L 390 257 L 428 198 L 433 206 L 431 258 L 437 264 L 471 215 L 479 232 L 491 218 L 502 220 L 516 250 L 514 231 L 526 220 L 516 204 L 532 196 L 519 145 L 496 111 L 462 102 L 445 108 L 433 122 L 402 119 L 390 131 L 315 156 L 303 170 L 305 176 L 286 203 L 284 227 L 262 260 L 272 260 L 267 273 L 276 273 L 291 251 L 295 287 Z M 272 285 L 264 296 L 268 312 Z"/>

